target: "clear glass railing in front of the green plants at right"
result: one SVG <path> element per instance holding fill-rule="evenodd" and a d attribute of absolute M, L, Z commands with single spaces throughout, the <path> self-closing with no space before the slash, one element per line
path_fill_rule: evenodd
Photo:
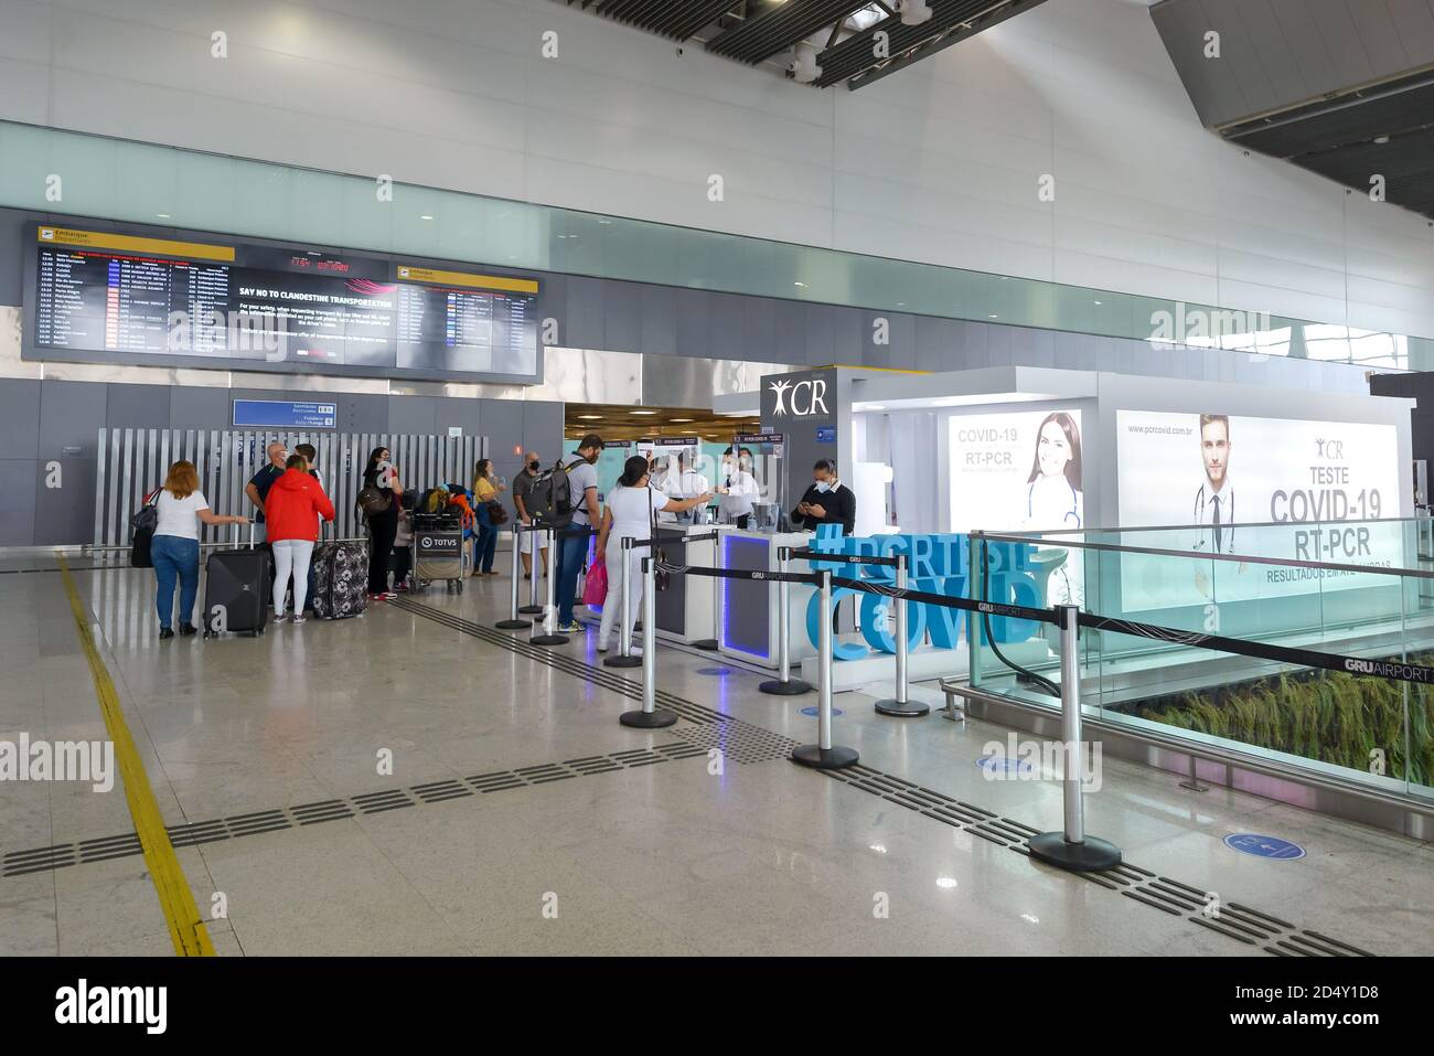
<path fill-rule="evenodd" d="M 1248 554 L 1200 550 L 1190 527 L 977 535 L 972 581 L 992 601 L 1074 603 L 1179 633 L 1434 666 L 1430 525 L 1242 525 Z M 1024 568 L 982 580 L 981 562 L 1010 564 L 1018 541 L 1028 544 L 1017 548 Z M 1291 557 L 1315 547 L 1329 557 Z M 1060 706 L 1044 684 L 1060 679 L 1053 628 L 977 621 L 974 630 L 972 686 Z M 1083 630 L 1080 659 L 1087 715 L 1434 799 L 1434 687 L 1216 651 L 1179 634 Z"/>

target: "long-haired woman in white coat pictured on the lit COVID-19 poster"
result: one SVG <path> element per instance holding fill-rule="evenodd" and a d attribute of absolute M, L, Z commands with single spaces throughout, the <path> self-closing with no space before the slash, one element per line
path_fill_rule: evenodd
<path fill-rule="evenodd" d="M 1081 495 L 1080 426 L 1064 410 L 1053 410 L 1035 430 L 1035 458 L 1025 489 L 1027 531 L 1061 531 L 1081 528 L 1084 496 Z M 1045 580 L 1048 604 L 1084 603 L 1084 575 L 1078 567 L 1081 551 L 1061 547 L 1040 547 L 1037 564 L 1050 568 Z M 1073 562 L 1076 562 L 1073 565 Z"/>

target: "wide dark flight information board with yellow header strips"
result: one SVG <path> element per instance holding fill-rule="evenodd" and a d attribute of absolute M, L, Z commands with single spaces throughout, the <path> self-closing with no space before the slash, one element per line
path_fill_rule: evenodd
<path fill-rule="evenodd" d="M 39 227 L 26 359 L 536 380 L 538 283 L 272 245 Z"/>

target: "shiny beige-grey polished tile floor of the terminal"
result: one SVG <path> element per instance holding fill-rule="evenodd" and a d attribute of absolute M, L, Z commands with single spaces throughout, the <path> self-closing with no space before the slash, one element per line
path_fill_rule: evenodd
<path fill-rule="evenodd" d="M 1434 951 L 1434 849 L 1417 841 L 1107 760 L 1087 826 L 1137 869 L 1107 888 L 891 795 L 906 781 L 1058 828 L 1057 783 L 977 766 L 1005 739 L 995 726 L 882 719 L 870 697 L 840 694 L 837 740 L 870 768 L 863 788 L 780 758 L 713 760 L 713 742 L 815 739 L 800 713 L 815 697 L 763 696 L 757 674 L 711 656 L 663 650 L 661 686 L 697 719 L 737 722 L 644 732 L 618 723 L 635 706 L 621 687 L 400 605 L 258 640 L 161 643 L 149 574 L 70 562 L 166 825 L 228 819 L 228 838 L 176 839 L 219 954 L 1262 951 L 1131 894 L 1159 877 L 1278 918 L 1285 937 Z M 0 740 L 105 737 L 62 577 L 17 571 L 53 567 L 0 562 Z M 422 601 L 490 626 L 506 580 Z M 594 637 L 556 651 L 598 663 Z M 555 763 L 569 765 L 529 769 Z M 245 831 L 260 826 L 250 815 L 277 816 L 277 831 Z M 132 829 L 119 785 L 0 783 L 0 953 L 172 954 L 145 859 L 95 859 L 83 842 Z M 1308 855 L 1242 855 L 1222 842 L 1232 832 Z M 11 868 L 9 855 L 66 845 L 77 864 Z"/>

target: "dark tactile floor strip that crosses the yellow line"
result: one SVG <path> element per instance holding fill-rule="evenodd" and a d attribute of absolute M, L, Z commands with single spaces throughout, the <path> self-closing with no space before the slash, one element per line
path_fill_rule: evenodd
<path fill-rule="evenodd" d="M 215 844 L 222 839 L 252 836 L 260 832 L 278 832 L 281 829 L 323 825 L 324 822 L 343 821 L 344 818 L 402 811 L 427 803 L 443 803 L 450 799 L 466 799 L 473 795 L 505 792 L 515 788 L 533 788 L 549 785 L 555 781 L 572 781 L 574 778 L 585 778 L 594 773 L 615 773 L 673 759 L 694 759 L 706 755 L 706 749 L 691 743 L 657 745 L 651 749 L 635 748 L 608 755 L 587 756 L 584 759 L 568 759 L 561 763 L 541 763 L 538 766 L 523 766 L 516 770 L 495 770 L 462 779 L 430 781 L 409 788 L 360 792 L 343 799 L 324 799 L 317 803 L 282 806 L 274 811 L 241 814 L 234 818 L 215 818 L 212 821 L 172 825 L 168 832 L 169 841 L 175 847 L 198 847 L 201 844 Z M 133 832 L 83 839 L 77 844 L 42 847 L 32 851 L 10 851 L 0 859 L 0 877 L 23 877 L 29 872 L 44 872 L 49 869 L 63 869 L 70 865 L 128 858 L 142 854 L 142 851 L 139 836 Z"/>

